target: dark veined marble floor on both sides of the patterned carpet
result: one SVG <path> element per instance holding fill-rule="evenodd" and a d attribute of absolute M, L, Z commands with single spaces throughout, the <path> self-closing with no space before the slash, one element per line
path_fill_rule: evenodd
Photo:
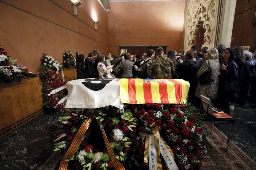
<path fill-rule="evenodd" d="M 40 169 L 53 154 L 53 140 L 62 133 L 62 124 L 57 121 L 60 116 L 60 113 L 43 114 L 0 138 L 0 170 Z M 236 106 L 233 116 L 236 122 L 231 141 L 256 162 L 256 109 L 249 104 Z M 215 124 L 215 127 L 228 135 L 227 124 Z"/>

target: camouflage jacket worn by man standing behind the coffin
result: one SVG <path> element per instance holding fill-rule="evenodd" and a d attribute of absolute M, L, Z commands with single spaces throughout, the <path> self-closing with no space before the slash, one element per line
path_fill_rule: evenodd
<path fill-rule="evenodd" d="M 175 75 L 174 64 L 171 59 L 161 55 L 150 63 L 147 74 L 150 79 L 172 79 L 172 75 Z"/>

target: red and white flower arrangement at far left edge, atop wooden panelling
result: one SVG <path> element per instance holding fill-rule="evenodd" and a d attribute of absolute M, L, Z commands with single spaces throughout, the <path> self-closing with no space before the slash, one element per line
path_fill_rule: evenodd
<path fill-rule="evenodd" d="M 0 82 L 17 82 L 36 77 L 35 74 L 28 73 L 27 66 L 21 67 L 16 61 L 7 56 L 4 48 L 0 48 Z"/>

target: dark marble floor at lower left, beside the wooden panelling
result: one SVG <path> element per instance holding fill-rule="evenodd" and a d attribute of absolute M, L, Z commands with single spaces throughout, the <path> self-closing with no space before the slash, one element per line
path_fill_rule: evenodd
<path fill-rule="evenodd" d="M 61 114 L 43 114 L 0 138 L 0 169 L 40 169 L 53 154 L 53 140 L 62 133 Z"/>

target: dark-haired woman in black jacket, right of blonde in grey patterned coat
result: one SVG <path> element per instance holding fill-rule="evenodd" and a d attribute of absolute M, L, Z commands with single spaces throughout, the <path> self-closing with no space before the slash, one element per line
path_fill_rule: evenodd
<path fill-rule="evenodd" d="M 224 61 L 221 63 L 220 68 L 220 99 L 223 101 L 220 109 L 225 113 L 230 113 L 230 97 L 231 95 L 237 95 L 231 91 L 226 91 L 225 82 L 232 83 L 238 79 L 238 67 L 234 61 L 235 52 L 232 48 L 226 48 L 223 54 Z"/>

